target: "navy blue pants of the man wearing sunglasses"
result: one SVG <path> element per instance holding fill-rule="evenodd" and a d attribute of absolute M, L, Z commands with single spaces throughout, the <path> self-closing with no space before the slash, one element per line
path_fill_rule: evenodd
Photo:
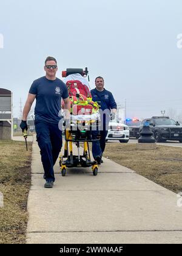
<path fill-rule="evenodd" d="M 36 138 L 41 149 L 41 161 L 44 167 L 45 180 L 55 181 L 53 166 L 62 147 L 62 131 L 58 124 L 35 121 Z"/>

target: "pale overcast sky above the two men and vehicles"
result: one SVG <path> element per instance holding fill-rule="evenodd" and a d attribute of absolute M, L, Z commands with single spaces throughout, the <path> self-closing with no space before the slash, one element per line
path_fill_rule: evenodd
<path fill-rule="evenodd" d="M 47 55 L 58 78 L 87 66 L 94 88 L 103 76 L 127 117 L 182 113 L 181 0 L 0 0 L 0 34 L 0 87 L 13 91 L 14 116 Z"/>

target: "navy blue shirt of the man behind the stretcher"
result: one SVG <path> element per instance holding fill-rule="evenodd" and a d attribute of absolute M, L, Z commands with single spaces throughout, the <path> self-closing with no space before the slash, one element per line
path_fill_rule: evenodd
<path fill-rule="evenodd" d="M 110 110 L 113 108 L 117 108 L 115 99 L 113 98 L 113 95 L 110 91 L 107 91 L 105 88 L 103 91 L 98 91 L 95 89 L 92 89 L 92 100 L 98 102 L 98 104 L 101 106 L 101 110 L 105 110 L 104 113 L 106 113 L 106 119 L 104 118 L 104 123 L 109 123 L 109 114 Z M 106 111 L 107 110 L 107 111 Z M 103 115 L 101 115 L 101 119 L 103 118 Z"/>

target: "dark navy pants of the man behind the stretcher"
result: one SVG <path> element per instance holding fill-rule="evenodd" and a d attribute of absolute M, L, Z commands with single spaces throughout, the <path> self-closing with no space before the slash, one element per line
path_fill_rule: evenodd
<path fill-rule="evenodd" d="M 100 134 L 100 140 L 98 141 L 93 141 L 92 142 L 92 155 L 93 158 L 95 159 L 97 156 L 102 157 L 104 149 L 106 147 L 106 137 L 107 137 L 107 132 L 108 132 L 108 126 L 104 125 L 103 129 L 99 131 Z M 95 140 L 98 136 L 98 131 L 93 130 L 92 131 L 92 138 Z"/>

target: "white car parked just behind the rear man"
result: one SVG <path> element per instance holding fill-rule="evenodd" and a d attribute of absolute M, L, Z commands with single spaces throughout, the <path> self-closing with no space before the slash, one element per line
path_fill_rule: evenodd
<path fill-rule="evenodd" d="M 126 124 L 118 123 L 116 120 L 109 122 L 106 141 L 119 140 L 121 143 L 129 141 L 129 127 Z"/>

